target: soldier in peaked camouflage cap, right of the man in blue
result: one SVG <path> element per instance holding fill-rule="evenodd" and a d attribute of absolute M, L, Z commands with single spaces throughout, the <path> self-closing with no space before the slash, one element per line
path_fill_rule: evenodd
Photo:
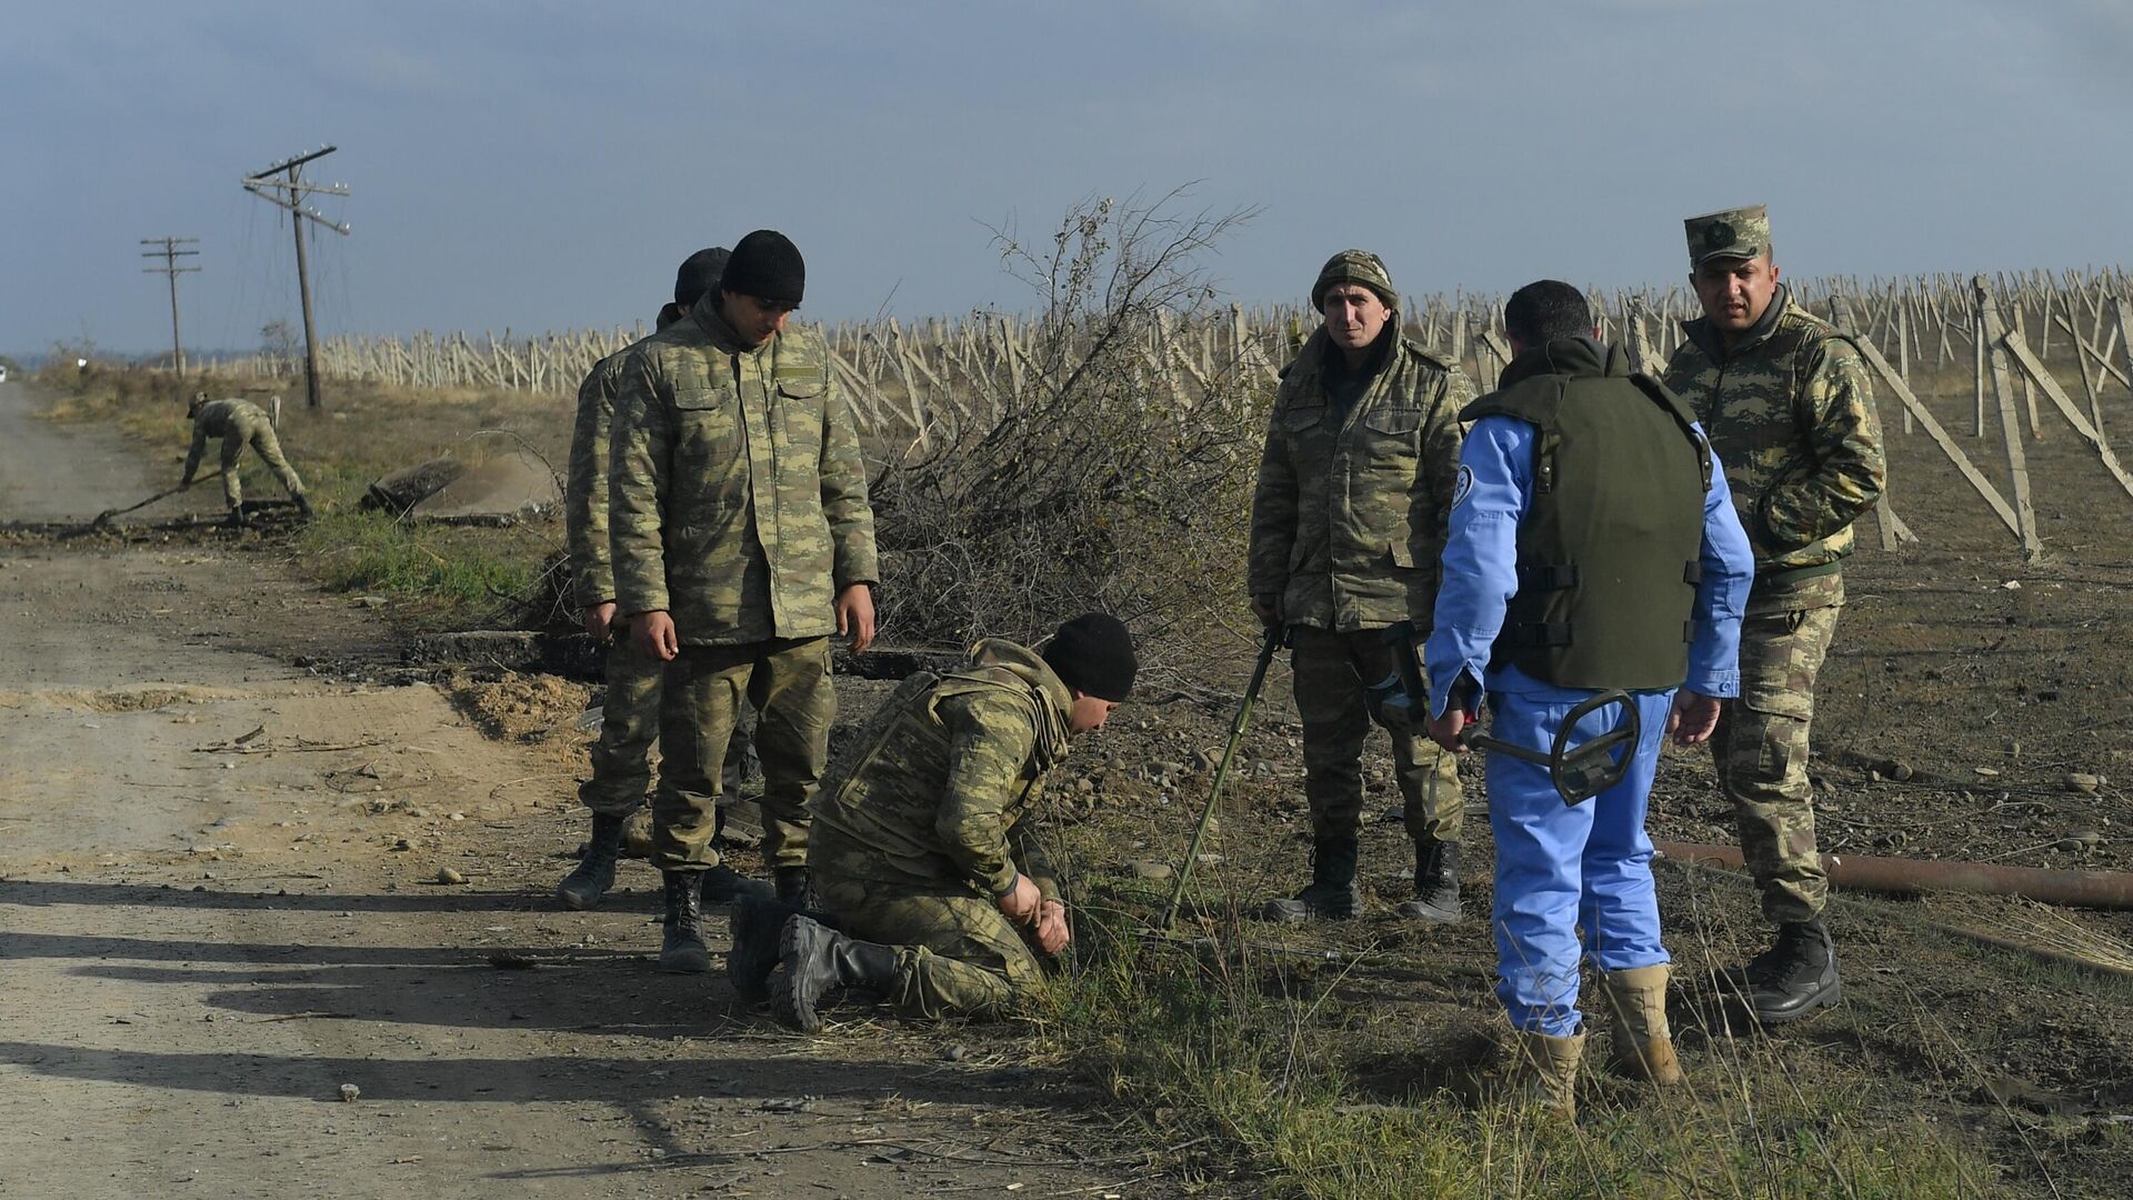
<path fill-rule="evenodd" d="M 1726 700 L 1711 747 L 1762 912 L 1777 925 L 1745 993 L 1762 1021 L 1781 1023 L 1843 995 L 1822 920 L 1828 873 L 1815 852 L 1807 728 L 1845 602 L 1851 521 L 1881 495 L 1881 427 L 1858 348 L 1779 282 L 1762 205 L 1685 224 L 1704 316 L 1685 325 L 1666 386 L 1711 436 L 1755 549 L 1741 698 Z"/>

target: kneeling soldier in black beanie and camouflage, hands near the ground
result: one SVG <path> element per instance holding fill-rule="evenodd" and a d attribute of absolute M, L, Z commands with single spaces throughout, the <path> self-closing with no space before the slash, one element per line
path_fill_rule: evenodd
<path fill-rule="evenodd" d="M 1045 775 L 1069 739 L 1103 728 L 1135 668 L 1126 626 L 1088 613 L 1043 653 L 988 638 L 962 670 L 900 696 L 845 786 L 815 801 L 823 912 L 734 912 L 736 991 L 768 984 L 779 1021 L 804 1031 L 840 986 L 924 1019 L 992 1019 L 1026 999 L 1043 982 L 1037 954 L 1071 937 L 1037 818 Z"/>

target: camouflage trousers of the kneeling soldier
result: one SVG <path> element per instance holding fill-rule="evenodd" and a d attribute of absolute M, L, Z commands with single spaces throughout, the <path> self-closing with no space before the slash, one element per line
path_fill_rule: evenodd
<path fill-rule="evenodd" d="M 823 833 L 808 850 L 815 899 L 836 927 L 896 948 L 883 997 L 900 1016 L 990 1021 L 1043 986 L 1037 952 L 1007 916 L 960 882 L 892 884 L 857 878 L 868 850 Z"/>

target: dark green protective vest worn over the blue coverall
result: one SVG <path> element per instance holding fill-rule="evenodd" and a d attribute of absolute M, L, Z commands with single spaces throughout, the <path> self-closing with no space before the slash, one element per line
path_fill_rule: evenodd
<path fill-rule="evenodd" d="M 1630 374 L 1619 350 L 1604 367 L 1591 350 L 1551 342 L 1531 352 L 1551 374 L 1525 374 L 1459 414 L 1517 416 L 1538 431 L 1519 591 L 1489 664 L 1561 688 L 1679 688 L 1696 632 L 1711 446 L 1674 393 Z"/>

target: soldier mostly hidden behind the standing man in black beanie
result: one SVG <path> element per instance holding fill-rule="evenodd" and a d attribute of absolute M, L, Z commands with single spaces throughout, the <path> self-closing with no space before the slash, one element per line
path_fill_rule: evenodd
<path fill-rule="evenodd" d="M 665 329 L 719 284 L 725 248 L 697 250 L 674 273 L 674 301 L 663 305 L 657 327 Z M 570 483 L 563 519 L 570 534 L 572 594 L 584 611 L 584 632 L 608 643 L 608 694 L 599 709 L 599 741 L 593 743 L 593 777 L 578 786 L 578 801 L 593 811 L 593 835 L 578 867 L 557 886 L 565 907 L 593 907 L 614 886 L 625 826 L 644 807 L 651 788 L 653 741 L 659 737 L 659 675 L 665 664 L 629 645 L 614 621 L 614 564 L 608 553 L 608 429 L 614 423 L 614 384 L 629 359 L 625 346 L 593 363 L 578 386 L 578 419 L 570 438 Z M 725 752 L 723 786 L 738 790 L 744 775 L 747 737 Z M 719 863 L 704 871 L 704 903 L 732 901 L 749 880 Z"/>

